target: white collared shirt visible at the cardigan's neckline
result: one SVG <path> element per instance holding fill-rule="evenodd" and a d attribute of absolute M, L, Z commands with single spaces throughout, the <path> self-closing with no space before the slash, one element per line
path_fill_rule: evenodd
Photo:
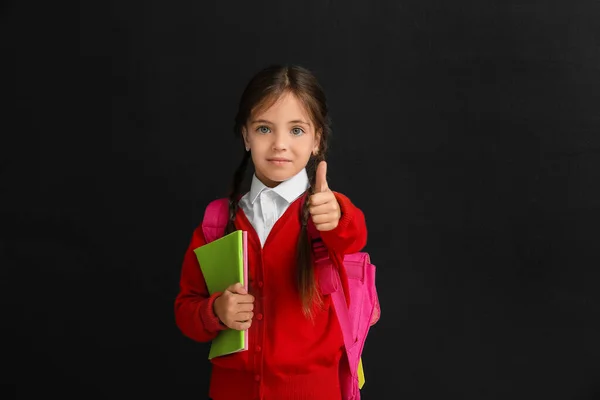
<path fill-rule="evenodd" d="M 250 191 L 240 199 L 239 206 L 254 227 L 262 246 L 275 222 L 308 187 L 306 169 L 274 188 L 265 186 L 256 175 L 252 176 Z"/>

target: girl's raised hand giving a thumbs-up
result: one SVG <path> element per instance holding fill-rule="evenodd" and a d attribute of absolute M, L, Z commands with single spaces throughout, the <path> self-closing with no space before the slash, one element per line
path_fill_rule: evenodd
<path fill-rule="evenodd" d="M 340 222 L 342 212 L 333 192 L 327 185 L 327 163 L 321 161 L 317 166 L 315 193 L 310 196 L 310 215 L 319 231 L 335 229 Z"/>

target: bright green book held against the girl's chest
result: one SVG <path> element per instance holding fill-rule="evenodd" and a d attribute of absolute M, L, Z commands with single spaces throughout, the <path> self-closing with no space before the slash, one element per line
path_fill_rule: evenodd
<path fill-rule="evenodd" d="M 194 250 L 208 292 L 240 282 L 248 290 L 248 236 L 237 230 Z M 248 350 L 248 331 L 225 329 L 211 343 L 208 359 Z"/>

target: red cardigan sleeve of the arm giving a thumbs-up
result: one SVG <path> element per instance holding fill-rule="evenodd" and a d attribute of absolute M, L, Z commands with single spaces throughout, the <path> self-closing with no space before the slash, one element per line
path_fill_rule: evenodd
<path fill-rule="evenodd" d="M 348 197 L 334 192 L 342 216 L 331 231 L 319 232 L 328 249 L 338 254 L 361 251 L 367 244 L 367 225 L 363 212 Z"/>

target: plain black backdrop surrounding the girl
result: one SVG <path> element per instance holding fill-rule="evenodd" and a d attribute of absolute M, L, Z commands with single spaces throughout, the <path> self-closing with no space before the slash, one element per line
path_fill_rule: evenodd
<path fill-rule="evenodd" d="M 600 398 L 600 3 L 4 2 L 1 292 L 19 398 L 205 398 L 173 300 L 259 68 L 329 96 L 366 216 L 365 399 Z"/>

